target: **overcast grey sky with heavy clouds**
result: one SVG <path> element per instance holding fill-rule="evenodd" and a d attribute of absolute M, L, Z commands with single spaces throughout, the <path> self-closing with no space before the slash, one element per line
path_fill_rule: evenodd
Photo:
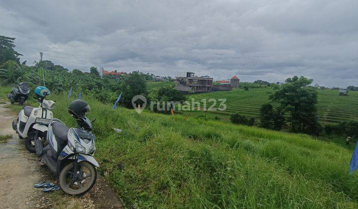
<path fill-rule="evenodd" d="M 358 86 L 358 0 L 1 0 L 21 61 Z"/>

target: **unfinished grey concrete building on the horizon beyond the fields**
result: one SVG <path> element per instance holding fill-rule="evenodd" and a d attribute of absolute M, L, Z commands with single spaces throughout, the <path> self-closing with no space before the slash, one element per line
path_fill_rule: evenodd
<path fill-rule="evenodd" d="M 176 89 L 184 92 L 211 92 L 213 87 L 213 78 L 209 76 L 195 76 L 193 72 L 177 73 L 177 86 Z"/>

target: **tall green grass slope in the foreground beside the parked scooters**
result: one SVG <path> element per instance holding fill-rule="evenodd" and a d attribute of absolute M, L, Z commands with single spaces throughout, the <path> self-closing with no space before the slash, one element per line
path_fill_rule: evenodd
<path fill-rule="evenodd" d="M 74 126 L 71 100 L 51 99 L 55 116 Z M 97 118 L 100 171 L 127 207 L 358 207 L 358 176 L 348 176 L 351 151 L 336 144 L 83 99 L 89 118 Z"/>

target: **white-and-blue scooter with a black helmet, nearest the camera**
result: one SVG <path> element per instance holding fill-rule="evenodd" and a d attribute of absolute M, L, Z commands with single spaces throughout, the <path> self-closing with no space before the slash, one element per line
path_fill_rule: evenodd
<path fill-rule="evenodd" d="M 89 105 L 82 100 L 73 101 L 68 108 L 78 124 L 68 128 L 61 120 L 53 119 L 48 126 L 47 142 L 42 145 L 35 141 L 36 154 L 42 155 L 41 162 L 54 172 L 61 189 L 69 195 L 82 195 L 95 184 L 99 167 L 93 158 L 95 152 L 94 134 L 91 133 L 92 121 L 86 117 Z M 43 148 L 42 148 L 43 147 Z"/>

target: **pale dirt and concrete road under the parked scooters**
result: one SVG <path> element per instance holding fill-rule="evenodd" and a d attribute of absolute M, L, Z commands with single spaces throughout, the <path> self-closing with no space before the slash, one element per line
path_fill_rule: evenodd
<path fill-rule="evenodd" d="M 92 190 L 82 197 L 65 195 L 61 190 L 44 193 L 33 187 L 36 183 L 50 181 L 57 184 L 56 177 L 40 166 L 38 158 L 29 153 L 11 128 L 16 113 L 0 104 L 0 135 L 12 135 L 0 143 L 0 208 L 121 208 L 113 190 L 99 177 Z"/>

